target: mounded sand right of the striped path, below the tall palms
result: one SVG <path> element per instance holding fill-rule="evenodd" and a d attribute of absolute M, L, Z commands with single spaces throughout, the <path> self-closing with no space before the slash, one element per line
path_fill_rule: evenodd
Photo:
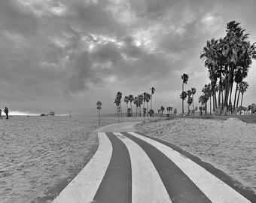
<path fill-rule="evenodd" d="M 200 157 L 256 193 L 256 124 L 237 118 L 176 118 L 139 124 L 136 129 Z"/>

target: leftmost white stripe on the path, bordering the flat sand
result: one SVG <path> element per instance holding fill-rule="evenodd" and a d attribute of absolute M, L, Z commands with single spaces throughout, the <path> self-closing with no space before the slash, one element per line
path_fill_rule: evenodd
<path fill-rule="evenodd" d="M 112 156 L 112 144 L 104 132 L 98 133 L 99 147 L 90 162 L 60 192 L 53 203 L 85 203 L 93 201 Z"/>

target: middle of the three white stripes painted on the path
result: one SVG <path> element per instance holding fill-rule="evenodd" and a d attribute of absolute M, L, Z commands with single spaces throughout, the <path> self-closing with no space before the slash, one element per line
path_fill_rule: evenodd
<path fill-rule="evenodd" d="M 117 135 L 117 138 L 123 141 L 130 153 L 133 181 L 132 202 L 172 202 L 157 169 L 145 151 L 142 150 L 142 147 L 118 132 L 114 135 Z"/>

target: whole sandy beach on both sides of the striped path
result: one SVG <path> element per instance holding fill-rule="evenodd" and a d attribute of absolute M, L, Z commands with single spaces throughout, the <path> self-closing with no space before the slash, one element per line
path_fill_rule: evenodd
<path fill-rule="evenodd" d="M 120 122 L 143 118 L 120 118 Z M 117 123 L 102 117 L 101 126 Z M 1 120 L 0 201 L 51 202 L 98 147 L 97 117 L 12 117 Z M 236 118 L 146 118 L 136 126 L 199 156 L 256 192 L 256 124 Z"/>

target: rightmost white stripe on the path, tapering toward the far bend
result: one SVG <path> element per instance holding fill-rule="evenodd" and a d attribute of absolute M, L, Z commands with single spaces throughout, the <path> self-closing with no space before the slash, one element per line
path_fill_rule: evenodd
<path fill-rule="evenodd" d="M 223 181 L 219 180 L 209 171 L 206 171 L 205 168 L 197 165 L 197 163 L 188 159 L 178 153 L 172 148 L 167 147 L 160 142 L 154 141 L 150 138 L 146 138 L 145 136 L 138 135 L 135 132 L 128 132 L 130 135 L 134 135 L 136 138 L 140 138 L 143 141 L 148 142 L 149 144 L 156 147 L 162 153 L 164 153 L 178 168 L 187 174 L 187 177 L 190 178 L 200 189 L 201 191 L 213 202 L 213 203 L 221 203 L 221 202 L 230 202 L 230 203 L 244 203 L 251 202 L 244 196 L 240 195 L 239 192 L 236 192 L 235 189 L 228 186 Z"/>

